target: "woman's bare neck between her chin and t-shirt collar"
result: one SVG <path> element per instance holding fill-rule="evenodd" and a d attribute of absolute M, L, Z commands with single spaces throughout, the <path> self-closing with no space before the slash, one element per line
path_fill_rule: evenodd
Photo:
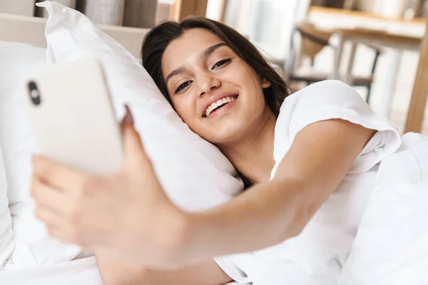
<path fill-rule="evenodd" d="M 267 120 L 257 128 L 250 128 L 238 142 L 218 146 L 235 168 L 253 184 L 270 179 L 275 165 L 273 142 L 275 135 L 275 115 L 270 113 Z"/>

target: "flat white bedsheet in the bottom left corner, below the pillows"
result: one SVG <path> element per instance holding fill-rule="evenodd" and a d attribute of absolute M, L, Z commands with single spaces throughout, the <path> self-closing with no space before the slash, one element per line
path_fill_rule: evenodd
<path fill-rule="evenodd" d="M 0 272 L 1 285 L 102 285 L 95 257 Z M 230 285 L 238 283 L 230 283 Z M 183 285 L 177 280 L 177 285 Z"/>

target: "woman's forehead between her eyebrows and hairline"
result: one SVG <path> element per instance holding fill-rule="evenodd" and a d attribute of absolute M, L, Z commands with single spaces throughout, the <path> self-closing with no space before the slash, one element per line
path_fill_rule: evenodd
<path fill-rule="evenodd" d="M 195 61 L 206 48 L 223 41 L 204 28 L 192 28 L 182 36 L 171 41 L 162 56 L 163 75 L 185 65 L 188 61 Z"/>

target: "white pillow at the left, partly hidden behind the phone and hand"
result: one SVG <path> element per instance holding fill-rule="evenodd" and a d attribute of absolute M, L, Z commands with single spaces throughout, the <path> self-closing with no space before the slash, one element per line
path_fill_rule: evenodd
<path fill-rule="evenodd" d="M 71 260 L 80 249 L 49 237 L 44 224 L 34 216 L 29 193 L 31 155 L 36 145 L 24 108 L 24 79 L 26 73 L 46 66 L 46 49 L 0 42 L 0 62 L 0 144 L 15 235 L 15 250 L 6 269 Z"/>

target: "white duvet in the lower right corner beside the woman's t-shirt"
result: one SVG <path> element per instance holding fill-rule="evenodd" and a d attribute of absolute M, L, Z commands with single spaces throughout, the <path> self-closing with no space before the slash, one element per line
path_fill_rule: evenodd
<path fill-rule="evenodd" d="M 428 284 L 428 138 L 382 161 L 340 285 Z"/>

